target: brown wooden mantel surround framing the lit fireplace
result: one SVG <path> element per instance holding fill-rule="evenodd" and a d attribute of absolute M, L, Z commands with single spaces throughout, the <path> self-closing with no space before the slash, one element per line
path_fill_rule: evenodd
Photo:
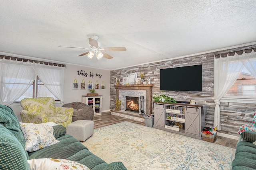
<path fill-rule="evenodd" d="M 146 114 L 152 114 L 152 88 L 154 84 L 125 84 L 114 85 L 116 99 L 119 100 L 119 90 L 146 90 Z"/>

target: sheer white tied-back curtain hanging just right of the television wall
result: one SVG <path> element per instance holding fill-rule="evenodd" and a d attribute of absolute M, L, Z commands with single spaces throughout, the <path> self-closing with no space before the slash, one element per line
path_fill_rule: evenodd
<path fill-rule="evenodd" d="M 244 68 L 236 56 L 214 57 L 214 127 L 220 131 L 220 99 L 234 84 L 238 75 Z"/>

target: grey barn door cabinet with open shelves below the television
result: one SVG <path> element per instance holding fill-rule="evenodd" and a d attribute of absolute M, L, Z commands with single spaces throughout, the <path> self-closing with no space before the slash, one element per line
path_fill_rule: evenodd
<path fill-rule="evenodd" d="M 202 139 L 206 105 L 154 104 L 154 128 Z"/>

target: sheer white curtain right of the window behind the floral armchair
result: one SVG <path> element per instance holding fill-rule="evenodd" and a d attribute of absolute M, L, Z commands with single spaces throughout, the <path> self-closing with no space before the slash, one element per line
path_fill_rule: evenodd
<path fill-rule="evenodd" d="M 30 63 L 36 74 L 42 80 L 46 88 L 60 100 L 64 102 L 64 67 L 50 66 L 40 63 Z"/>

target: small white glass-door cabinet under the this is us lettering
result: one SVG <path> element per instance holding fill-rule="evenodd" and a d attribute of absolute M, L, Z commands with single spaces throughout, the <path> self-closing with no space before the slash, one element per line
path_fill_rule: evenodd
<path fill-rule="evenodd" d="M 101 115 L 102 96 L 82 96 L 82 103 L 91 106 L 94 115 Z"/>

